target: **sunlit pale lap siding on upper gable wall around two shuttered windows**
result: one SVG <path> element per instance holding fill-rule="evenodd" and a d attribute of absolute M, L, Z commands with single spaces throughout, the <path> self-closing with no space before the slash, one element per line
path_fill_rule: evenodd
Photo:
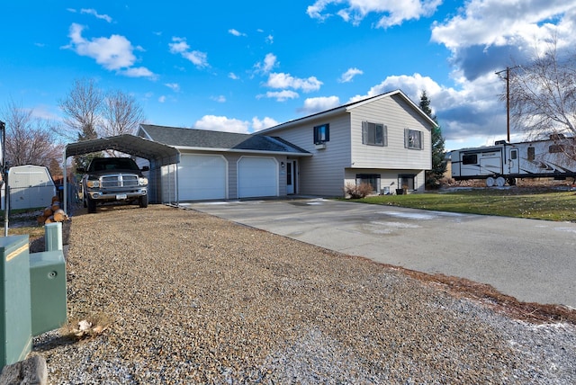
<path fill-rule="evenodd" d="M 362 143 L 362 121 L 383 123 L 388 146 Z M 359 168 L 429 169 L 432 166 L 430 127 L 397 95 L 385 97 L 352 110 L 352 162 Z M 404 129 L 423 133 L 424 149 L 404 148 Z"/>

